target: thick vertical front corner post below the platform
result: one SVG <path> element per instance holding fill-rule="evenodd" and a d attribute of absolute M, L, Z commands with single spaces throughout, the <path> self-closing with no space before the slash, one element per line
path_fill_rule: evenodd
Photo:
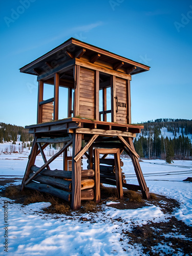
<path fill-rule="evenodd" d="M 73 134 L 73 155 L 72 155 L 72 209 L 79 209 L 81 206 L 81 158 L 75 162 L 74 157 L 81 150 L 82 134 Z"/>

